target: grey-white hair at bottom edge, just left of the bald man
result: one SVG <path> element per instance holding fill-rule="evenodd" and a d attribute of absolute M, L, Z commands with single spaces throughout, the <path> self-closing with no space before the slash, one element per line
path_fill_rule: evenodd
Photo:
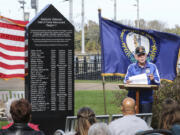
<path fill-rule="evenodd" d="M 111 132 L 106 123 L 95 123 L 89 128 L 88 135 L 111 135 Z"/>

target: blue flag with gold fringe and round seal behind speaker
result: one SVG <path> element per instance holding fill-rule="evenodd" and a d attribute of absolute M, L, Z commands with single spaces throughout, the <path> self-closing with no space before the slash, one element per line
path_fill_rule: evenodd
<path fill-rule="evenodd" d="M 144 46 L 147 60 L 156 64 L 160 78 L 174 80 L 180 48 L 180 36 L 154 30 L 142 30 L 101 17 L 102 76 L 125 76 L 129 64 L 136 62 L 134 50 Z"/>

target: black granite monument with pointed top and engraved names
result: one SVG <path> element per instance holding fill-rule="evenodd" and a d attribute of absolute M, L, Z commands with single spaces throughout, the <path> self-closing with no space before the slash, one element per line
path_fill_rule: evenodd
<path fill-rule="evenodd" d="M 32 123 L 46 135 L 64 130 L 74 115 L 74 27 L 47 5 L 26 27 L 28 72 L 26 98 L 32 104 Z"/>

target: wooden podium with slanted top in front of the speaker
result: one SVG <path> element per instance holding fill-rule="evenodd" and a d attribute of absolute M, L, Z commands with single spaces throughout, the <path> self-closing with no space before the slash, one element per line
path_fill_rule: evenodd
<path fill-rule="evenodd" d="M 147 84 L 119 84 L 120 89 L 135 90 L 136 91 L 136 113 L 139 113 L 139 95 L 141 90 L 158 90 L 158 85 Z"/>

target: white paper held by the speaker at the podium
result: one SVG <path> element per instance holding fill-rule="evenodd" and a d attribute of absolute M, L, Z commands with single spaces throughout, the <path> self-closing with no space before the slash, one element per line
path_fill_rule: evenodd
<path fill-rule="evenodd" d="M 146 73 L 131 76 L 129 80 L 131 81 L 130 84 L 148 84 Z"/>

